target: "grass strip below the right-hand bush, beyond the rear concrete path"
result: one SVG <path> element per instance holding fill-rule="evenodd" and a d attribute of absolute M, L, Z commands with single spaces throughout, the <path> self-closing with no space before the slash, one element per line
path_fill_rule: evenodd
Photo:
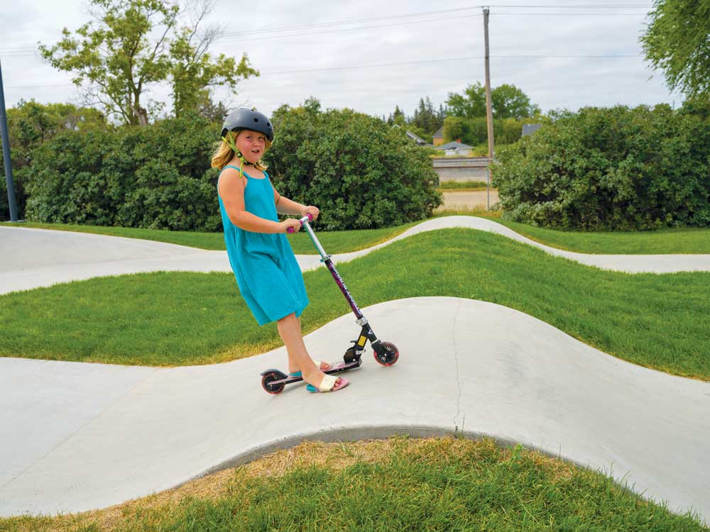
<path fill-rule="evenodd" d="M 583 232 L 555 231 L 499 218 L 513 231 L 531 240 L 579 253 L 601 255 L 653 255 L 710 253 L 710 228 L 666 228 L 658 231 Z"/>

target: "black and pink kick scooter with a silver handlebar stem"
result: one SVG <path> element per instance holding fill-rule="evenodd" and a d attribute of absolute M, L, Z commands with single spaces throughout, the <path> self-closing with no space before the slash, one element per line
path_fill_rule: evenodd
<path fill-rule="evenodd" d="M 359 338 L 357 340 L 351 340 L 353 345 L 345 351 L 343 361 L 338 362 L 337 364 L 332 364 L 328 370 L 324 371 L 324 373 L 332 375 L 333 373 L 339 373 L 360 367 L 362 364 L 361 356 L 365 350 L 365 345 L 368 340 L 370 340 L 375 360 L 383 366 L 393 365 L 399 359 L 399 350 L 397 349 L 397 346 L 391 342 L 383 342 L 379 340 L 377 336 L 375 336 L 375 333 L 373 333 L 367 318 L 362 315 L 362 312 L 355 303 L 355 300 L 348 291 L 348 288 L 345 286 L 343 279 L 340 277 L 338 270 L 335 269 L 330 255 L 325 253 L 323 246 L 320 244 L 318 238 L 313 232 L 313 228 L 310 226 L 310 222 L 313 221 L 313 217 L 310 214 L 307 214 L 303 218 L 300 218 L 299 221 L 301 223 L 301 227 L 305 228 L 310 236 L 310 239 L 315 245 L 315 248 L 318 250 L 318 253 L 320 253 L 321 262 L 324 262 L 330 271 L 330 274 L 333 276 L 333 279 L 337 282 L 340 291 L 350 304 L 350 308 L 357 318 L 356 323 L 361 327 Z M 293 233 L 293 228 L 288 228 L 288 232 Z M 300 375 L 286 375 L 280 370 L 272 369 L 261 373 L 261 386 L 266 390 L 266 392 L 274 395 L 283 392 L 286 384 L 293 384 L 294 382 L 301 382 L 302 380 L 303 377 Z"/>

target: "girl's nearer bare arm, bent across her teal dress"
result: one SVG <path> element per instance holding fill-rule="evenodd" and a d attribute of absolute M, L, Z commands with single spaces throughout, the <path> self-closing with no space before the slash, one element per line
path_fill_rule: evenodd
<path fill-rule="evenodd" d="M 244 181 L 244 177 L 241 177 L 234 168 L 227 168 L 219 178 L 219 197 L 222 198 L 224 209 L 231 223 L 252 233 L 285 233 L 288 227 L 293 227 L 296 231 L 300 229 L 300 222 L 294 218 L 275 222 L 245 211 Z"/>

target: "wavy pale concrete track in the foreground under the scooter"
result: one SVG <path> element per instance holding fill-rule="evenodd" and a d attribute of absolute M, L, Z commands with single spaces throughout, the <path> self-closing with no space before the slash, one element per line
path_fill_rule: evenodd
<path fill-rule="evenodd" d="M 143 368 L 0 359 L 0 515 L 117 504 L 298 443 L 464 433 L 613 472 L 670 509 L 710 516 L 710 384 L 638 367 L 542 321 L 481 301 L 364 309 L 400 360 L 368 349 L 351 384 L 266 394 L 285 350 L 221 365 Z M 305 338 L 338 360 L 359 327 Z"/>

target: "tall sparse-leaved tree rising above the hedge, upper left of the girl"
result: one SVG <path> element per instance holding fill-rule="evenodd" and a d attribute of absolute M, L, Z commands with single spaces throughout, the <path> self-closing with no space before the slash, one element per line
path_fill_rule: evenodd
<path fill-rule="evenodd" d="M 126 124 L 148 123 L 149 114 L 162 104 L 141 98 L 152 84 L 167 79 L 173 85 L 176 113 L 198 111 L 207 103 L 210 85 L 224 81 L 234 89 L 239 77 L 258 75 L 246 55 L 239 65 L 223 55 L 210 62 L 207 48 L 215 31 L 193 41 L 204 13 L 211 8 L 209 1 L 199 6 L 202 14 L 197 22 L 180 29 L 180 6 L 175 3 L 90 0 L 94 20 L 81 26 L 75 37 L 63 28 L 62 40 L 51 47 L 40 44 L 40 53 L 53 67 L 75 74 L 72 81 L 83 85 L 87 104 L 99 104 L 107 116 Z"/>

